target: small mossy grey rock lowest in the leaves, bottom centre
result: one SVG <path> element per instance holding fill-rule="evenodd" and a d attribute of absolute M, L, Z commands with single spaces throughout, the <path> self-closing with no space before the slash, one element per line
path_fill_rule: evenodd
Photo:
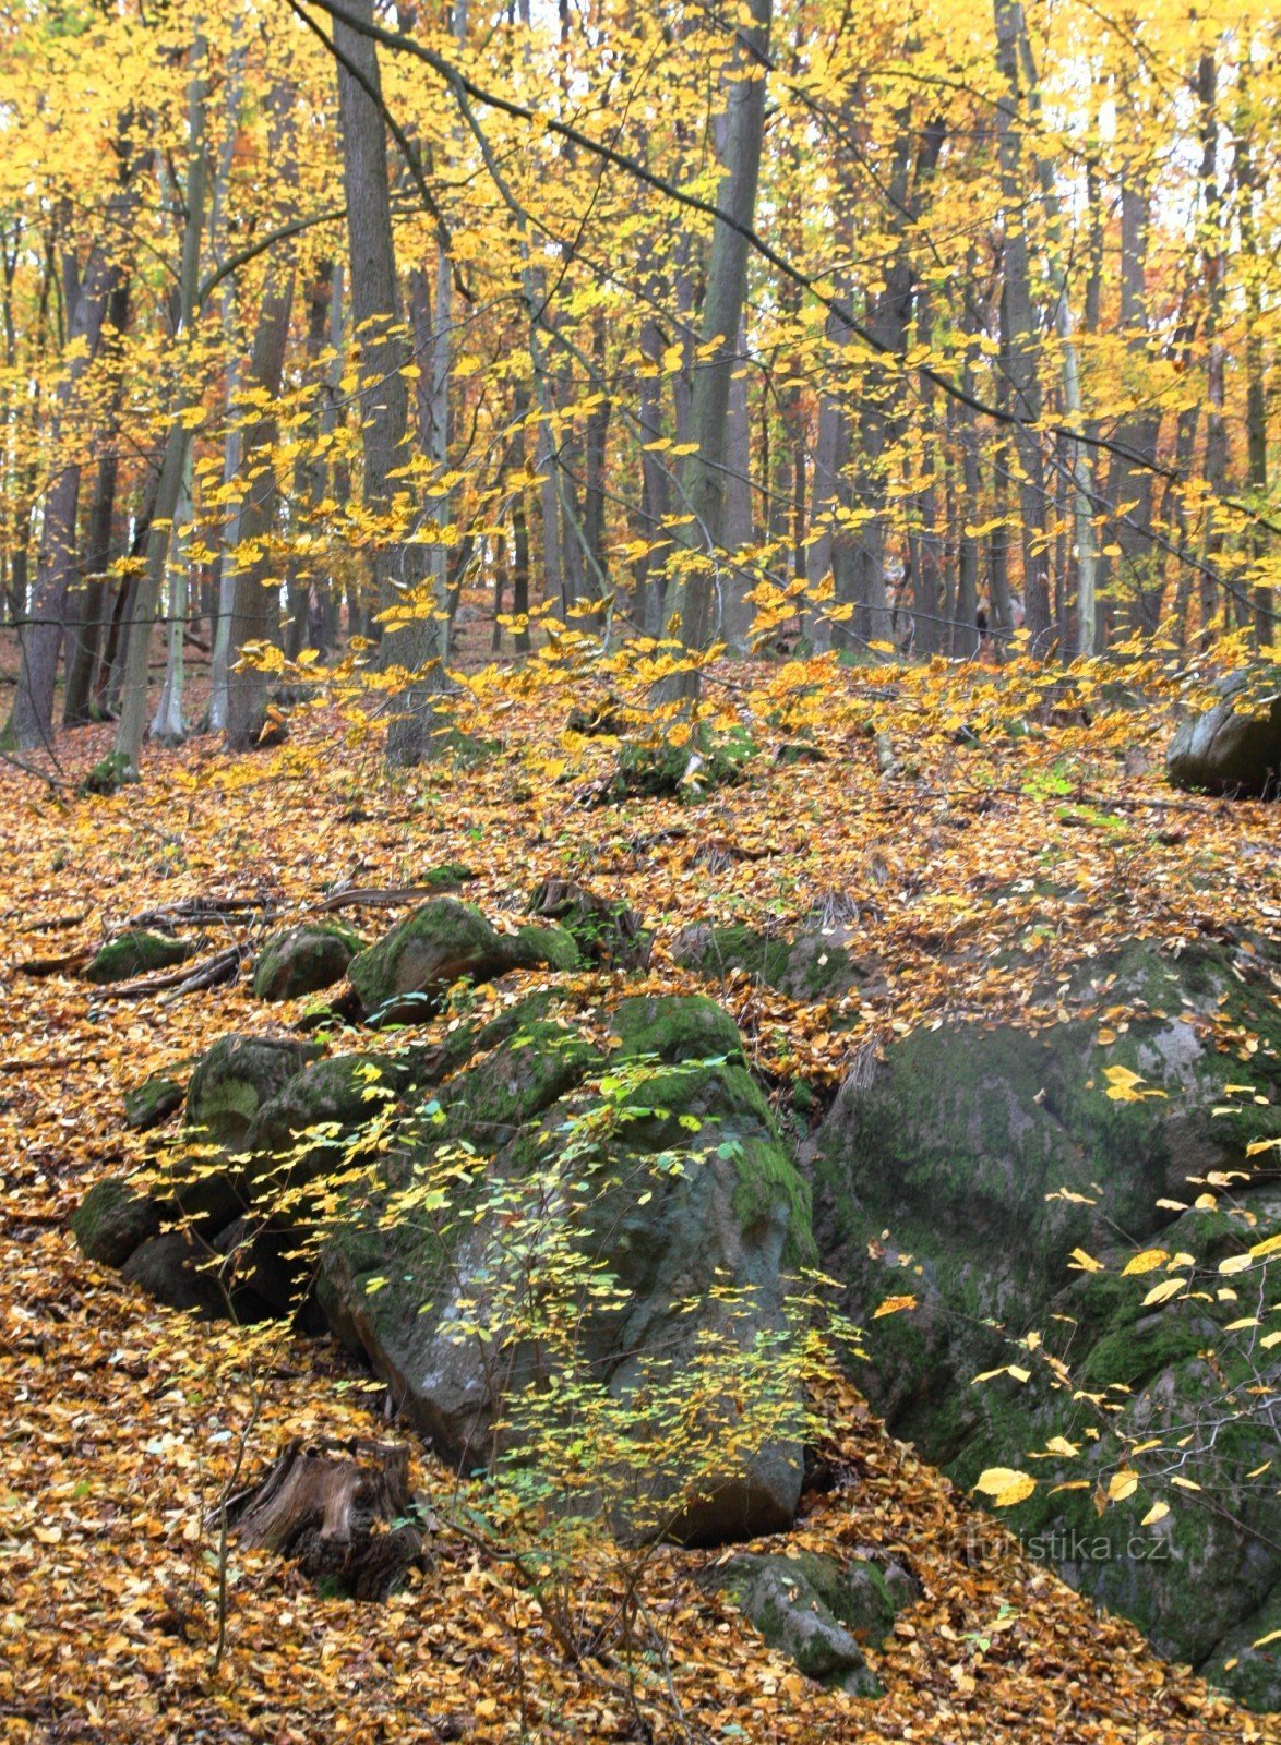
<path fill-rule="evenodd" d="M 852 1696 L 881 1694 L 862 1649 L 880 1647 L 895 1612 L 916 1598 L 897 1564 L 883 1572 L 862 1558 L 843 1562 L 819 1551 L 740 1551 L 707 1570 L 703 1586 L 728 1593 L 806 1679 Z"/>

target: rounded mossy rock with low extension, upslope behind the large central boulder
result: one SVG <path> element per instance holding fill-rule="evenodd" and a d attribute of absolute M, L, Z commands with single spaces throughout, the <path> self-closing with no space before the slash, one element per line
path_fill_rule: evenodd
<path fill-rule="evenodd" d="M 372 1023 L 403 1023 L 429 1017 L 464 975 L 494 981 L 515 968 L 569 970 L 576 963 L 578 949 L 558 927 L 499 934 L 480 909 L 440 897 L 354 956 L 347 975 Z"/>

